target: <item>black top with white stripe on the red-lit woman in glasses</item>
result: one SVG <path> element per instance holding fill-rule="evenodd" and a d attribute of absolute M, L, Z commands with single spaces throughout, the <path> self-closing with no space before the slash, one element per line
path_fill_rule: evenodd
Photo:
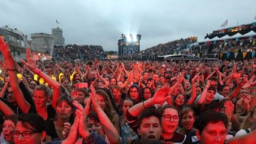
<path fill-rule="evenodd" d="M 187 137 L 186 135 L 183 135 L 181 133 L 177 133 L 174 132 L 173 136 L 171 137 L 171 139 L 165 139 L 164 137 L 160 137 L 160 140 L 164 143 L 168 143 L 168 142 L 173 142 L 173 143 L 191 143 L 191 139 L 189 139 L 189 137 Z"/>

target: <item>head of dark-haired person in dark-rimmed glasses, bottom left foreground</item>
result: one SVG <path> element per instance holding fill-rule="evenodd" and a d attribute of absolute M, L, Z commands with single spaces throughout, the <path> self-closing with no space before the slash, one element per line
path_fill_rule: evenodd
<path fill-rule="evenodd" d="M 15 143 L 43 143 L 46 137 L 44 119 L 34 113 L 21 114 L 11 136 Z"/>

